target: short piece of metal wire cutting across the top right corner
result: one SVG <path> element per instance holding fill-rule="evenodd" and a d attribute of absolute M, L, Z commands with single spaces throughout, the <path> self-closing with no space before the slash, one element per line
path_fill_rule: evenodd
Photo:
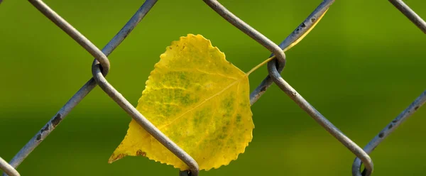
<path fill-rule="evenodd" d="M 402 0 L 389 0 L 393 6 L 396 7 L 401 13 L 403 13 L 405 16 L 407 16 L 408 19 L 410 19 L 411 22 L 415 24 L 420 30 L 423 31 L 423 33 L 426 33 L 426 22 L 420 18 L 420 16 L 415 13 L 412 9 L 410 9 L 410 6 L 404 3 Z"/>

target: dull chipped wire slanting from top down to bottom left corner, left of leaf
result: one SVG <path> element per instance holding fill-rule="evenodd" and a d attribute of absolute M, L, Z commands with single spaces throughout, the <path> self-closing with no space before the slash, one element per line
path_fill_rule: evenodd
<path fill-rule="evenodd" d="M 147 0 L 141 8 L 136 11 L 136 13 L 131 17 L 131 19 L 126 23 L 126 25 L 121 28 L 119 33 L 117 33 L 114 38 L 112 38 L 109 43 L 102 49 L 102 52 L 105 55 L 109 55 L 114 51 L 115 48 L 117 48 L 118 45 L 131 33 L 133 28 L 135 28 L 138 23 L 143 19 L 143 17 L 146 16 L 148 11 L 151 10 L 151 8 L 154 6 L 155 2 L 157 0 Z M 92 89 L 96 87 L 96 82 L 93 78 L 89 79 L 89 81 L 86 82 L 80 88 L 77 93 L 75 93 L 67 103 L 62 106 L 62 108 L 53 116 L 48 123 L 43 126 L 43 128 L 38 131 L 38 133 L 35 134 L 33 138 L 31 138 L 26 145 L 23 146 L 23 148 L 13 157 L 10 164 L 13 167 L 18 167 L 22 163 L 25 158 L 28 157 L 28 155 L 58 126 L 58 124 L 65 119 L 65 117 L 70 113 L 72 109 L 74 109 L 77 104 L 86 97 L 87 94 L 89 94 Z"/>

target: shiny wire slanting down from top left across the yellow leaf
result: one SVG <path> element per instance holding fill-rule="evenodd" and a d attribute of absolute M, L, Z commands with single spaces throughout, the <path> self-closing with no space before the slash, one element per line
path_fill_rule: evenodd
<path fill-rule="evenodd" d="M 101 50 L 99 50 L 95 45 L 93 45 L 90 40 L 84 37 L 79 31 L 73 28 L 70 23 L 67 23 L 65 19 L 60 17 L 55 11 L 50 9 L 48 5 L 46 5 L 41 0 L 30 0 L 31 4 L 35 6 L 41 13 L 43 13 L 47 18 L 49 18 L 56 26 L 60 27 L 62 31 L 65 31 L 72 39 L 74 39 L 77 43 L 82 45 L 84 49 L 86 49 L 96 60 L 94 60 L 92 65 L 92 75 L 94 80 L 99 84 L 104 92 L 106 92 L 109 97 L 114 99 L 119 106 L 121 106 L 124 111 L 126 111 L 136 122 L 139 123 L 148 133 L 151 134 L 156 140 L 158 140 L 161 144 L 168 148 L 170 152 L 175 154 L 180 160 L 182 160 L 185 164 L 190 167 L 192 175 L 198 175 L 198 165 L 197 162 L 188 155 L 185 150 L 182 150 L 178 145 L 176 145 L 173 141 L 170 140 L 167 136 L 163 134 L 158 128 L 156 128 L 153 123 L 148 121 L 136 108 L 133 107 L 111 84 L 107 82 L 104 75 L 107 75 L 109 71 L 109 60 Z"/>

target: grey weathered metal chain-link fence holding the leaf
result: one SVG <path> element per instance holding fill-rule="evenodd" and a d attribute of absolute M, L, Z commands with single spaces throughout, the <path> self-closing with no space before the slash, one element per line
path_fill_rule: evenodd
<path fill-rule="evenodd" d="M 95 59 L 92 64 L 92 78 L 87 81 L 82 88 L 80 88 L 74 96 L 71 97 L 67 103 L 62 106 L 62 108 L 55 114 L 55 116 L 48 121 L 48 123 L 38 131 L 33 138 L 31 138 L 26 145 L 13 157 L 13 159 L 7 163 L 5 160 L 0 158 L 0 169 L 4 171 L 3 176 L 18 176 L 20 175 L 16 171 L 23 160 L 25 160 L 28 155 L 35 149 L 37 146 L 44 141 L 44 139 L 58 126 L 58 124 L 65 119 L 65 117 L 74 109 L 77 104 L 86 97 L 89 92 L 96 87 L 98 84 L 99 87 L 106 92 L 111 99 L 114 99 L 116 103 L 121 106 L 121 108 L 126 111 L 129 116 L 131 116 L 135 121 L 139 123 L 143 128 L 148 131 L 156 140 L 162 143 L 165 148 L 168 148 L 172 153 L 174 153 L 180 160 L 186 163 L 190 170 L 180 171 L 180 175 L 198 175 L 198 165 L 197 162 L 188 155 L 185 150 L 182 150 L 178 145 L 171 141 L 167 136 L 165 136 L 158 128 L 148 121 L 142 114 L 140 114 L 130 103 L 127 101 L 114 87 L 109 84 L 105 76 L 109 72 L 109 60 L 108 55 L 111 54 L 114 49 L 120 45 L 120 43 L 131 33 L 133 28 L 135 28 L 138 23 L 146 16 L 148 11 L 150 11 L 157 0 L 146 0 L 141 8 L 136 11 L 136 13 L 131 17 L 131 19 L 126 23 L 126 25 L 121 28 L 119 33 L 117 33 L 114 38 L 112 38 L 107 45 L 102 50 L 99 50 L 93 43 L 90 42 L 87 38 L 84 37 L 77 29 L 72 27 L 70 23 L 67 23 L 58 13 L 55 13 L 53 9 L 50 9 L 41 0 L 28 0 L 36 9 L 43 13 L 50 21 L 53 21 L 59 28 L 62 29 L 65 33 L 70 35 L 77 43 L 79 43 L 87 52 L 89 52 Z M 381 143 L 389 134 L 395 131 L 395 128 L 400 126 L 403 121 L 408 119 L 409 116 L 414 114 L 417 109 L 420 108 L 426 102 L 426 91 L 422 92 L 415 101 L 413 101 L 407 109 L 405 109 L 401 114 L 399 114 L 391 123 L 389 123 L 385 128 L 383 128 L 377 136 L 375 136 L 365 147 L 364 149 L 356 145 L 351 139 L 344 135 L 339 128 L 334 126 L 330 121 L 328 121 L 319 111 L 317 111 L 312 105 L 309 104 L 293 87 L 285 82 L 285 79 L 281 77 L 280 72 L 283 71 L 285 67 L 285 53 L 284 48 L 287 48 L 290 45 L 294 45 L 300 39 L 303 38 L 312 28 L 315 26 L 315 23 L 320 20 L 322 15 L 329 9 L 334 3 L 334 0 L 324 0 L 322 3 L 317 6 L 317 8 L 303 21 L 299 26 L 290 33 L 285 40 L 283 40 L 280 45 L 276 45 L 271 40 L 266 38 L 262 33 L 256 31 L 256 29 L 249 26 L 249 24 L 242 21 L 240 18 L 235 16 L 231 11 L 228 11 L 222 4 L 216 0 L 203 0 L 210 8 L 216 11 L 222 18 L 226 19 L 236 28 L 249 37 L 256 40 L 259 44 L 263 45 L 266 49 L 275 55 L 275 60 L 268 62 L 268 76 L 261 82 L 261 84 L 256 87 L 256 89 L 250 94 L 250 103 L 254 104 L 256 101 L 266 92 L 268 87 L 272 83 L 275 83 L 280 87 L 285 94 L 290 97 L 295 103 L 300 106 L 301 109 L 307 112 L 312 119 L 317 121 L 325 130 L 327 130 L 334 138 L 336 138 L 340 143 L 342 143 L 346 148 L 348 148 L 356 158 L 352 165 L 352 175 L 354 176 L 369 176 L 373 172 L 373 161 L 368 155 L 371 153 L 378 144 Z M 423 33 L 426 33 L 426 22 L 420 18 L 409 6 L 407 6 L 401 0 L 389 0 L 398 10 L 400 10 L 405 16 L 407 16 L 410 21 L 412 21 L 418 28 L 420 28 Z M 1 0 L 0 0 L 1 3 Z M 364 165 L 364 170 L 361 172 L 361 165 Z"/>

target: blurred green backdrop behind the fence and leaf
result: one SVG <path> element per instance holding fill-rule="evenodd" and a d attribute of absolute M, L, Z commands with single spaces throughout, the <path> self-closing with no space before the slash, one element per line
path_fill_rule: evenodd
<path fill-rule="evenodd" d="M 102 48 L 143 1 L 45 1 Z M 280 43 L 320 0 L 222 1 Z M 426 18 L 426 1 L 406 1 Z M 109 82 L 136 105 L 159 55 L 202 34 L 249 71 L 270 54 L 202 1 L 159 1 L 110 55 Z M 388 1 L 336 1 L 288 51 L 283 77 L 364 147 L 426 88 L 425 35 Z M 91 77 L 92 57 L 27 1 L 0 6 L 0 156 L 10 160 Z M 266 67 L 250 75 L 254 89 Z M 252 106 L 253 141 L 230 165 L 200 175 L 351 175 L 354 155 L 273 85 Z M 374 175 L 426 175 L 426 109 L 371 154 Z M 21 175 L 178 175 L 142 157 L 107 160 L 130 117 L 99 87 L 18 167 Z"/>

